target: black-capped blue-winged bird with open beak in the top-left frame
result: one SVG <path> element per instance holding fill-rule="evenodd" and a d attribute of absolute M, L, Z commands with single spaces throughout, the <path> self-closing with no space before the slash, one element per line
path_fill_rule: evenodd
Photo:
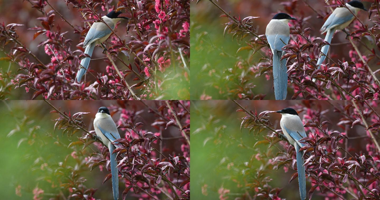
<path fill-rule="evenodd" d="M 107 15 L 101 17 L 103 21 L 113 30 L 116 26 L 116 23 L 120 19 L 128 19 L 128 17 L 119 16 L 122 14 L 121 11 L 112 10 Z M 90 59 L 92 56 L 92 52 L 97 44 L 101 44 L 107 40 L 107 38 L 111 35 L 112 30 L 103 22 L 94 22 L 87 32 L 86 38 L 84 38 L 83 48 L 85 54 L 88 54 L 90 57 L 85 57 L 81 60 L 81 65 L 79 66 L 78 73 L 76 74 L 76 81 L 80 82 L 82 76 L 86 73 L 89 68 Z M 103 46 L 103 45 L 102 45 Z M 103 46 L 104 48 L 104 46 Z"/>

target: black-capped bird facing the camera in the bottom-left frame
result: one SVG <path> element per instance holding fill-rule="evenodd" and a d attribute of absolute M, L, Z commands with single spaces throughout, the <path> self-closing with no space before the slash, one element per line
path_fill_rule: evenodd
<path fill-rule="evenodd" d="M 117 171 L 117 153 L 112 153 L 117 147 L 113 141 L 120 138 L 115 122 L 106 107 L 100 107 L 93 121 L 95 133 L 109 149 L 109 161 L 111 162 L 112 192 L 114 200 L 119 198 L 119 174 Z"/>

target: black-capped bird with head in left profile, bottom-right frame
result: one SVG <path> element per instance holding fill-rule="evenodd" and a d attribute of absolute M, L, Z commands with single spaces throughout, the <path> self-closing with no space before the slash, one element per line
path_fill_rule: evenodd
<path fill-rule="evenodd" d="M 305 146 L 305 144 L 299 142 L 299 140 L 306 137 L 304 125 L 302 124 L 297 111 L 293 108 L 285 108 L 277 111 L 277 113 L 282 114 L 280 121 L 282 132 L 285 137 L 287 137 L 289 143 L 296 149 L 299 194 L 301 196 L 301 200 L 304 200 L 306 199 L 306 178 L 303 158 L 304 151 L 299 152 L 299 149 Z"/>

